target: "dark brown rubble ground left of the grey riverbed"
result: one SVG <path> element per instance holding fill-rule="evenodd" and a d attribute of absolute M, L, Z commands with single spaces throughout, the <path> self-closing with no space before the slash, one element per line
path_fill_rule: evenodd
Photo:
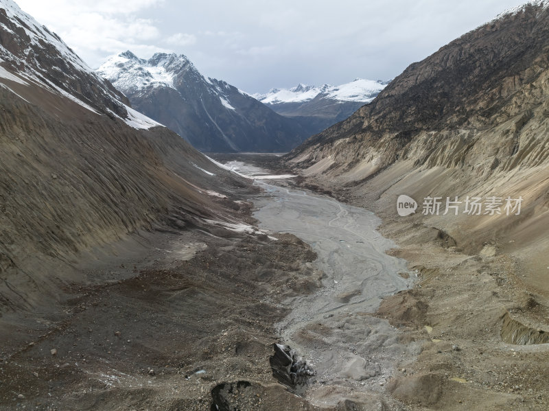
<path fill-rule="evenodd" d="M 238 204 L 235 220 L 252 222 Z M 316 256 L 293 235 L 242 227 L 159 227 L 83 264 L 102 281 L 67 285 L 56 310 L 24 314 L 1 348 L 0 410 L 210 410 L 233 385 L 248 394 L 241 409 L 304 403 L 269 357 L 281 300 L 319 285 Z"/>

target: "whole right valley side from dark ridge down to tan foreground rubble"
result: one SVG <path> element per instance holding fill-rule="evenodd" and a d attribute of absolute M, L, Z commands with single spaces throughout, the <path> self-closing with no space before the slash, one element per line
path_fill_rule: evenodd
<path fill-rule="evenodd" d="M 391 255 L 419 277 L 378 311 L 423 341 L 387 384 L 411 410 L 546 408 L 548 6 L 506 12 L 410 65 L 286 157 L 308 184 L 380 215 Z M 520 212 L 507 198 L 522 198 Z"/>

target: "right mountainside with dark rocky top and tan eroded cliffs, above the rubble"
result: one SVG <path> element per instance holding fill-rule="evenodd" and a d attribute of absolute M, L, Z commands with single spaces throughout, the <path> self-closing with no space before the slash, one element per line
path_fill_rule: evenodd
<path fill-rule="evenodd" d="M 502 14 L 411 64 L 371 104 L 287 160 L 386 215 L 395 216 L 397 196 L 408 194 L 419 202 L 411 222 L 441 228 L 468 250 L 497 241 L 543 257 L 549 246 L 539 228 L 549 223 L 548 51 L 545 2 Z M 468 215 L 464 204 L 457 216 L 421 215 L 428 196 L 524 201 L 513 218 Z"/>

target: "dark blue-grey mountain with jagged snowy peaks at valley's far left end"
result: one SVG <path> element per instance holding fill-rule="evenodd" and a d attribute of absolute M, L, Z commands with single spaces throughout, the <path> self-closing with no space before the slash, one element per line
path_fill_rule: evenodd
<path fill-rule="evenodd" d="M 314 134 L 231 84 L 205 78 L 183 55 L 143 60 L 126 51 L 97 73 L 203 152 L 286 152 Z"/>

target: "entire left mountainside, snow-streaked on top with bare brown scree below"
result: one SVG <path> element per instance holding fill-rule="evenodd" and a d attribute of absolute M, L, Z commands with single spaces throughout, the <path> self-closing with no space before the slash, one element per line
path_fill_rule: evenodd
<path fill-rule="evenodd" d="M 159 220 L 224 215 L 207 190 L 246 185 L 124 102 L 0 0 L 0 316 L 79 280 L 78 253 Z"/>

